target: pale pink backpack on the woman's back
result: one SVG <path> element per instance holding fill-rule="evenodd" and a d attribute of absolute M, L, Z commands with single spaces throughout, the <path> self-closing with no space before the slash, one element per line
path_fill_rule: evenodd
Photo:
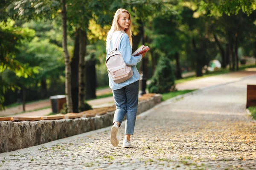
<path fill-rule="evenodd" d="M 125 64 L 122 54 L 119 51 L 119 43 L 122 34 L 125 33 L 119 34 L 116 40 L 116 45 L 114 49 L 109 52 L 108 58 L 106 60 L 108 72 L 115 83 L 124 82 L 130 79 L 133 75 L 131 66 Z"/>

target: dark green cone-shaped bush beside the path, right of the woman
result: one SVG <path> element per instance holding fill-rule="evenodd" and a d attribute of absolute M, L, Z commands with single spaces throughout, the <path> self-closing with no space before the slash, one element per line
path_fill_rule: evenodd
<path fill-rule="evenodd" d="M 148 85 L 149 93 L 167 93 L 174 88 L 175 75 L 167 57 L 162 57 L 157 64 L 156 71 Z"/>

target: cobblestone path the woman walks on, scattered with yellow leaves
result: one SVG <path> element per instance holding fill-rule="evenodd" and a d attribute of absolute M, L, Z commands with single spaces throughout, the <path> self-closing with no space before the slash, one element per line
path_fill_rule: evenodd
<path fill-rule="evenodd" d="M 256 84 L 256 76 L 139 115 L 131 138 L 135 148 L 122 148 L 122 139 L 112 147 L 108 128 L 0 157 L 0 169 L 256 169 L 256 123 L 245 111 L 247 84 Z"/>

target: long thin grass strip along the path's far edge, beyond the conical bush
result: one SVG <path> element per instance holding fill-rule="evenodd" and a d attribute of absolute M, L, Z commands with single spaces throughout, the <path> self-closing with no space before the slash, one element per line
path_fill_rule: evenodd
<path fill-rule="evenodd" d="M 241 65 L 239 67 L 239 71 L 243 71 L 246 68 L 255 68 L 255 67 L 256 67 L 255 64 L 252 64 L 252 65 Z M 205 77 L 215 76 L 215 75 L 219 75 L 219 74 L 225 74 L 225 73 L 232 73 L 232 71 L 229 71 L 228 68 L 224 68 L 224 69 L 221 68 L 218 71 L 212 71 L 212 72 L 205 73 L 205 74 L 203 74 L 202 77 L 189 76 L 189 77 L 185 77 L 183 79 L 175 80 L 175 84 L 182 83 L 182 82 L 187 82 L 187 81 L 191 81 L 191 80 L 195 80 L 195 79 L 201 79 L 201 78 L 205 78 Z"/>

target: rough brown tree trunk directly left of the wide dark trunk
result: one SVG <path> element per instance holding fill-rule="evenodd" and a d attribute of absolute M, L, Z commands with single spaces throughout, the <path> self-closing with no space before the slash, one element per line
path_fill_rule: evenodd
<path fill-rule="evenodd" d="M 86 54 L 86 32 L 79 29 L 79 68 L 78 68 L 78 110 L 84 110 L 84 94 L 85 94 L 85 65 L 84 65 L 84 56 Z"/>

